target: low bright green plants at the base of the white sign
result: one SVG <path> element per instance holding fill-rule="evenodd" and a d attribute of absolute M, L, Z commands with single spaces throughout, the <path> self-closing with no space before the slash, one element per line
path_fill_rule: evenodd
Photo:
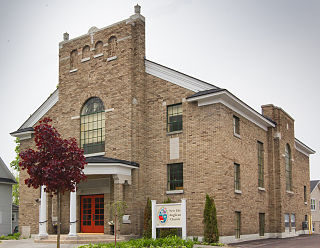
<path fill-rule="evenodd" d="M 200 242 L 192 241 L 192 240 L 183 240 L 177 236 L 171 236 L 166 238 L 159 239 L 132 239 L 129 241 L 121 241 L 117 242 L 118 248 L 193 248 L 195 244 L 200 244 Z M 223 246 L 221 243 L 208 244 L 212 246 Z M 101 243 L 101 244 L 89 244 L 82 245 L 78 248 L 114 248 L 114 243 Z"/>

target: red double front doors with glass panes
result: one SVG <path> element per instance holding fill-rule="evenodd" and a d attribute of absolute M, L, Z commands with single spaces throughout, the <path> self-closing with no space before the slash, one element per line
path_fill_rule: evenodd
<path fill-rule="evenodd" d="M 87 233 L 104 232 L 103 195 L 81 196 L 81 231 Z"/>

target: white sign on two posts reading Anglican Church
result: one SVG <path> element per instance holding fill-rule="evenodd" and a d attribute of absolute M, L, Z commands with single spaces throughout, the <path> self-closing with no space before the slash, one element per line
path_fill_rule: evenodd
<path fill-rule="evenodd" d="M 152 209 L 152 238 L 156 239 L 157 228 L 182 228 L 182 238 L 187 238 L 187 209 L 186 199 L 181 203 L 157 204 L 151 201 Z"/>

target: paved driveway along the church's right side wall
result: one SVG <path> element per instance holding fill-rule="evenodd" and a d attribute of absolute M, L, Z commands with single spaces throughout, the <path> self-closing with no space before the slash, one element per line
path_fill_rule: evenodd
<path fill-rule="evenodd" d="M 320 235 L 301 235 L 295 238 L 286 239 L 265 239 L 257 241 L 248 241 L 238 244 L 230 244 L 232 247 L 246 247 L 246 248 L 319 248 Z"/>

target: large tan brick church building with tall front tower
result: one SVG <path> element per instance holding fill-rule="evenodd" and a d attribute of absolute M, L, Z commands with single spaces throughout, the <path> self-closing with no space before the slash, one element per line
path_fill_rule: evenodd
<path fill-rule="evenodd" d="M 227 89 L 145 58 L 145 18 L 59 44 L 59 87 L 14 137 L 34 147 L 44 117 L 84 149 L 88 179 L 62 196 L 62 233 L 109 233 L 107 206 L 128 205 L 122 234 L 141 235 L 147 198 L 186 199 L 187 236 L 203 236 L 205 195 L 214 196 L 221 242 L 303 234 L 310 214 L 309 155 L 280 107 L 258 113 Z M 46 236 L 56 199 L 24 184 L 19 228 Z M 40 203 L 39 203 L 40 199 Z"/>

